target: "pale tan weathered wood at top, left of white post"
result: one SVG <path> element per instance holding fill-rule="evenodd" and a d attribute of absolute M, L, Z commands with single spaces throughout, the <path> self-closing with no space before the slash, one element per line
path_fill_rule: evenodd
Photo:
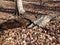
<path fill-rule="evenodd" d="M 0 1 L 0 8 L 15 8 L 15 3 L 12 1 Z"/>

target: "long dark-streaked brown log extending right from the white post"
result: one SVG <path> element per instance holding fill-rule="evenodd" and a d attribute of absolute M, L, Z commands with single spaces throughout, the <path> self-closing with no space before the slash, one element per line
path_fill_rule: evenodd
<path fill-rule="evenodd" d="M 60 8 L 55 7 L 55 8 L 48 8 L 48 7 L 40 7 L 38 5 L 24 5 L 24 8 L 26 11 L 34 12 L 36 14 L 49 14 L 49 13 L 59 13 Z"/>

